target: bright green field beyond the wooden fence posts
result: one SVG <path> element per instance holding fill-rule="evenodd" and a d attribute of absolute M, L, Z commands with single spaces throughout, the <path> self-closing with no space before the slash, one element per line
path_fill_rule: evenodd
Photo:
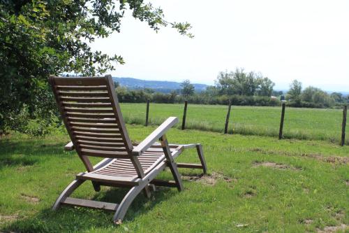
<path fill-rule="evenodd" d="M 146 104 L 121 104 L 121 108 L 126 122 L 144 125 Z M 221 105 L 188 104 L 186 128 L 223 132 L 227 110 L 227 106 Z M 169 116 L 177 116 L 181 121 L 183 111 L 184 104 L 150 104 L 149 123 L 160 125 Z M 232 106 L 229 133 L 279 136 L 280 118 L 281 107 Z M 340 109 L 286 108 L 283 136 L 339 143 L 342 119 Z M 349 136 L 346 143 L 349 144 Z"/>

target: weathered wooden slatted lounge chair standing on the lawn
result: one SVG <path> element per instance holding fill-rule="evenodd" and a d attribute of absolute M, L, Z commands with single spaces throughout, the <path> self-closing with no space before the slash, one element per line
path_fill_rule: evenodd
<path fill-rule="evenodd" d="M 165 133 L 178 122 L 170 117 L 138 145 L 128 137 L 111 76 L 85 78 L 59 78 L 50 76 L 61 117 L 71 143 L 87 171 L 76 175 L 75 180 L 59 195 L 53 209 L 62 204 L 87 206 L 116 211 L 114 223 L 121 223 L 133 199 L 141 192 L 150 197 L 154 185 L 177 187 L 183 190 L 177 167 L 203 169 L 205 158 L 200 144 L 173 145 Z M 156 143 L 160 141 L 160 143 Z M 196 148 L 201 164 L 176 164 L 174 159 L 185 149 Z M 89 156 L 104 159 L 93 166 Z M 155 179 L 169 167 L 174 181 Z M 130 188 L 120 204 L 96 202 L 69 197 L 84 181 L 91 181 L 96 192 L 101 185 Z"/>

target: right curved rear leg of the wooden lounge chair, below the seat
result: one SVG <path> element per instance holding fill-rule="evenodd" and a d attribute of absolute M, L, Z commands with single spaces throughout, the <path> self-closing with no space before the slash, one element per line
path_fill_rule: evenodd
<path fill-rule="evenodd" d="M 148 185 L 148 183 L 145 185 Z M 124 219 L 128 207 L 130 207 L 131 203 L 133 202 L 133 199 L 135 199 L 135 197 L 137 197 L 137 195 L 140 192 L 142 192 L 145 185 L 134 186 L 133 188 L 131 188 L 130 191 L 128 191 L 124 199 L 122 199 L 121 203 L 117 207 L 117 211 L 115 212 L 113 218 L 114 223 L 121 224 L 121 221 Z"/>

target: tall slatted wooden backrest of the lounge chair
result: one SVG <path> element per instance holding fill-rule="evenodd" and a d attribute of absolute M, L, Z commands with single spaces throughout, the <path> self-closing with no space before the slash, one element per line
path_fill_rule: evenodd
<path fill-rule="evenodd" d="M 131 158 L 131 140 L 122 118 L 112 76 L 50 76 L 61 117 L 87 170 L 87 156 Z"/>

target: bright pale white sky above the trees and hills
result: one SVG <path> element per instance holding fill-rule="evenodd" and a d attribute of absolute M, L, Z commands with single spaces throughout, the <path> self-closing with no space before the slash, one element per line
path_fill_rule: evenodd
<path fill-rule="evenodd" d="M 329 91 L 349 91 L 348 0 L 156 0 L 165 19 L 190 22 L 194 38 L 175 29 L 158 33 L 130 13 L 121 33 L 92 48 L 121 55 L 112 76 L 144 80 L 189 79 L 214 85 L 220 71 L 262 73 L 275 90 L 292 80 Z"/>

